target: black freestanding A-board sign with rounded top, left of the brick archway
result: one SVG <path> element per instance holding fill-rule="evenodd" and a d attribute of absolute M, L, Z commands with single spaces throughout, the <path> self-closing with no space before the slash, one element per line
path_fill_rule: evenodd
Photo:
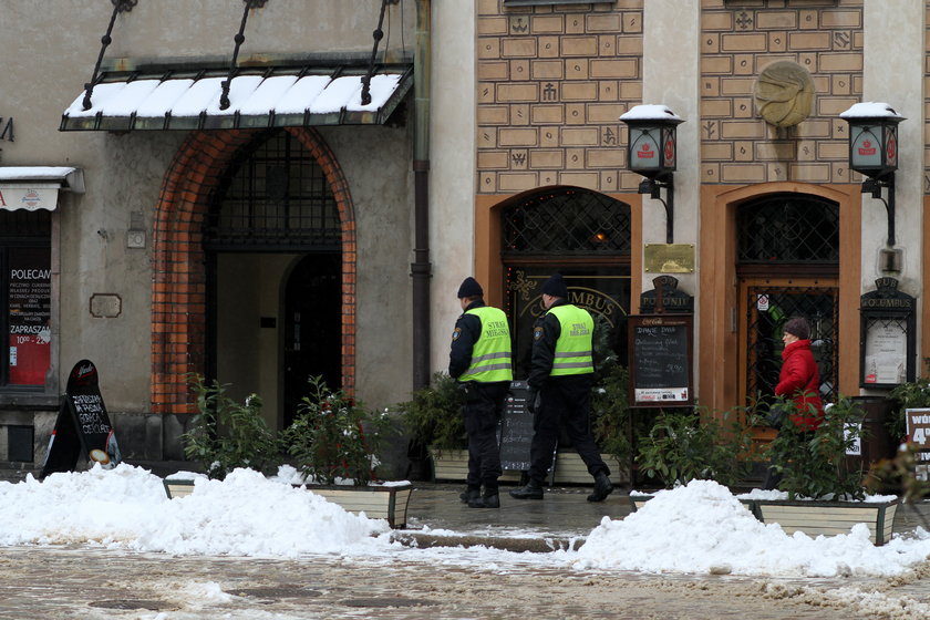
<path fill-rule="evenodd" d="M 74 469 L 83 454 L 108 469 L 122 461 L 116 435 L 106 415 L 96 366 L 81 360 L 71 370 L 41 477 Z"/>

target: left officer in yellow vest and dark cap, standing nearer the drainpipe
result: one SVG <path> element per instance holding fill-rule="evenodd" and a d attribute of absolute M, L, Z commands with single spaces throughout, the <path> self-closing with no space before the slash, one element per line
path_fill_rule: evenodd
<path fill-rule="evenodd" d="M 484 291 L 474 278 L 465 278 L 458 287 L 458 302 L 464 313 L 452 333 L 448 374 L 465 392 L 468 478 L 459 497 L 472 508 L 499 508 L 497 424 L 514 379 L 510 327 L 503 310 L 485 306 Z"/>

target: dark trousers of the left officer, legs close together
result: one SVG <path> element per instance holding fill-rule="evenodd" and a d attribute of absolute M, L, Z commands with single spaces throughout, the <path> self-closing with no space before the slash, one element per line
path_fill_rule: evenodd
<path fill-rule="evenodd" d="M 500 477 L 500 447 L 497 444 L 497 425 L 504 415 L 507 390 L 510 383 L 465 383 L 465 432 L 468 434 L 469 487 L 485 485 L 496 489 Z"/>

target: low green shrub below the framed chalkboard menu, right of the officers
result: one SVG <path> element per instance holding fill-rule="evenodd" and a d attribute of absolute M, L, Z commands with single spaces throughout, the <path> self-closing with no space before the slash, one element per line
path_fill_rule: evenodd
<path fill-rule="evenodd" d="M 725 412 L 722 421 L 700 412 L 663 411 L 649 435 L 640 440 L 637 462 L 647 476 L 661 478 L 666 488 L 692 479 L 736 485 L 750 466 L 753 422 L 751 414 L 740 410 Z"/>

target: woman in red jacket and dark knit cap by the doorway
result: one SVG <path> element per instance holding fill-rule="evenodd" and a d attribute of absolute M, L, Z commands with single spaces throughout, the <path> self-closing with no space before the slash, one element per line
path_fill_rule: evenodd
<path fill-rule="evenodd" d="M 820 372 L 810 352 L 810 328 L 800 317 L 790 319 L 782 328 L 782 371 L 775 395 L 792 399 L 795 412 L 790 414 L 795 426 L 813 434 L 824 421 L 824 403 L 820 401 Z M 781 433 L 781 431 L 779 431 Z M 782 476 L 772 469 L 765 476 L 763 488 L 777 488 Z"/>

